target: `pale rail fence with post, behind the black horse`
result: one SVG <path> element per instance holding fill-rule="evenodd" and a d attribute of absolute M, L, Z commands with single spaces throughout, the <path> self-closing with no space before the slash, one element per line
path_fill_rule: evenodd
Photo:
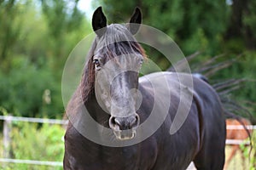
<path fill-rule="evenodd" d="M 0 120 L 3 120 L 3 144 L 4 148 L 9 147 L 10 142 L 10 126 L 11 122 L 38 122 L 38 123 L 49 123 L 49 124 L 61 124 L 67 125 L 68 121 L 65 120 L 55 120 L 55 119 L 45 119 L 45 118 L 32 118 L 32 117 L 20 117 L 20 116 L 0 116 Z M 246 126 L 247 129 L 256 129 L 256 126 Z M 243 129 L 243 126 L 240 125 L 230 125 L 227 126 L 227 129 Z M 226 144 L 249 144 L 244 140 L 236 140 L 236 139 L 227 139 Z M 37 160 L 18 160 L 18 159 L 9 159 L 9 156 L 6 155 L 5 158 L 0 158 L 0 162 L 5 163 L 22 163 L 22 164 L 33 164 L 33 165 L 46 165 L 46 166 L 62 166 L 62 162 L 60 161 L 37 161 Z"/>

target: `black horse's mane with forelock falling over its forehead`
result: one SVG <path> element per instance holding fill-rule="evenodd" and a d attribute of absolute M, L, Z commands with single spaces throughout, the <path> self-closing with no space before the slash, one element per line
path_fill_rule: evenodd
<path fill-rule="evenodd" d="M 104 55 L 105 59 L 114 59 L 122 54 L 135 53 L 142 54 L 146 58 L 144 49 L 124 25 L 112 24 L 108 26 L 105 34 L 102 37 L 96 37 L 92 42 L 79 87 L 67 105 L 67 114 L 76 112 L 79 106 L 85 104 L 94 94 L 95 65 L 93 64 L 93 57 L 97 51 Z"/>

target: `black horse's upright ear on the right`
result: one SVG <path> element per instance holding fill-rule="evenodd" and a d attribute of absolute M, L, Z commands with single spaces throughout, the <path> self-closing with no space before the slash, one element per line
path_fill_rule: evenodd
<path fill-rule="evenodd" d="M 140 24 L 142 23 L 143 20 L 143 14 L 141 12 L 140 8 L 135 8 L 131 19 L 130 19 L 130 23 L 131 25 L 128 26 L 128 29 L 131 31 L 131 34 L 136 34 L 138 29 L 140 28 Z"/>

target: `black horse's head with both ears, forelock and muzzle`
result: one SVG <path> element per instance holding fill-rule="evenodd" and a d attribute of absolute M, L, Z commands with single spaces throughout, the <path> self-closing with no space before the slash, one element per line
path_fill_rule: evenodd
<path fill-rule="evenodd" d="M 93 14 L 96 50 L 92 57 L 95 70 L 95 94 L 102 109 L 110 114 L 109 127 L 117 139 L 132 139 L 140 123 L 137 114 L 138 73 L 145 57 L 133 37 L 142 21 L 139 8 L 129 24 L 112 24 L 99 7 Z"/>

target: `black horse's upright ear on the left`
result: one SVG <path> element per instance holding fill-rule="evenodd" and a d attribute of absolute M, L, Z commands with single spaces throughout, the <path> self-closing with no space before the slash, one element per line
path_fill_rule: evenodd
<path fill-rule="evenodd" d="M 94 14 L 92 15 L 92 28 L 96 32 L 96 35 L 102 37 L 106 31 L 107 19 L 102 12 L 102 7 L 96 8 Z"/>

